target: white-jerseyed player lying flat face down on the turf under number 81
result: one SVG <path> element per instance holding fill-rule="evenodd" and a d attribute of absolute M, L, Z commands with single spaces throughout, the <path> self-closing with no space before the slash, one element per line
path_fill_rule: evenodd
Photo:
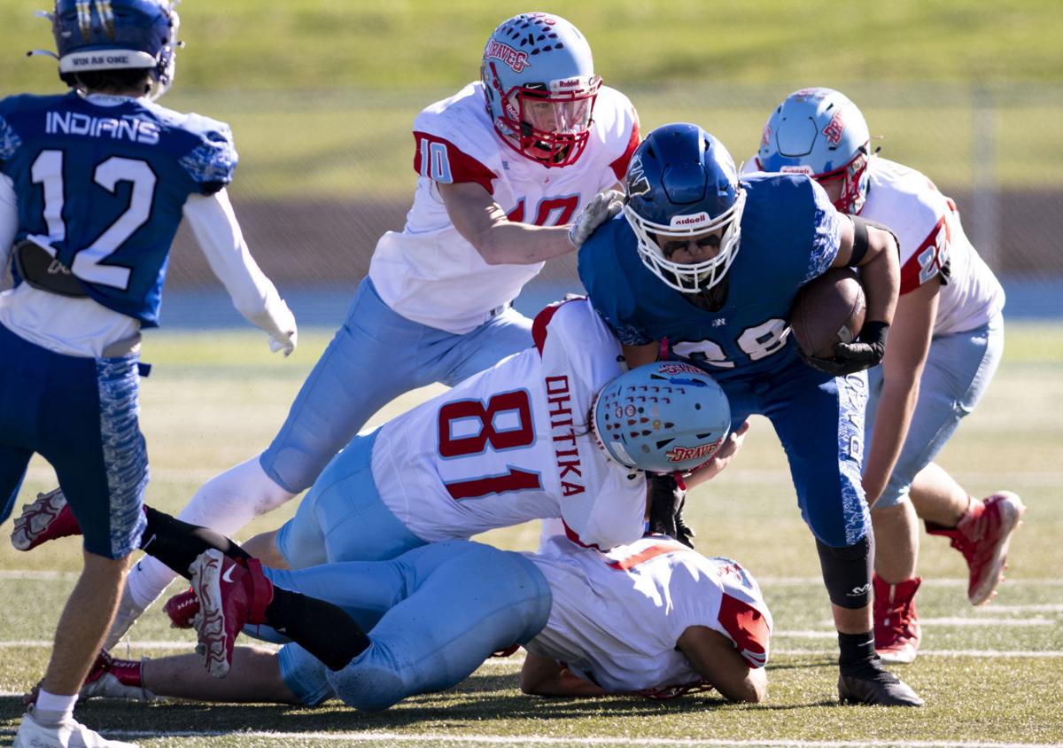
<path fill-rule="evenodd" d="M 217 596 L 234 630 L 257 622 L 291 635 L 294 627 L 296 643 L 280 652 L 231 648 L 220 681 L 198 654 L 104 654 L 83 696 L 303 705 L 338 697 L 381 710 L 455 685 L 514 644 L 528 652 L 528 694 L 668 698 L 714 687 L 752 702 L 766 694 L 772 617 L 757 582 L 735 561 L 664 536 L 608 553 L 561 536 L 537 553 L 451 541 L 392 561 L 298 571 L 244 567 L 213 550 L 192 566 L 200 599 Z M 327 628 L 300 625 L 306 604 Z"/>

